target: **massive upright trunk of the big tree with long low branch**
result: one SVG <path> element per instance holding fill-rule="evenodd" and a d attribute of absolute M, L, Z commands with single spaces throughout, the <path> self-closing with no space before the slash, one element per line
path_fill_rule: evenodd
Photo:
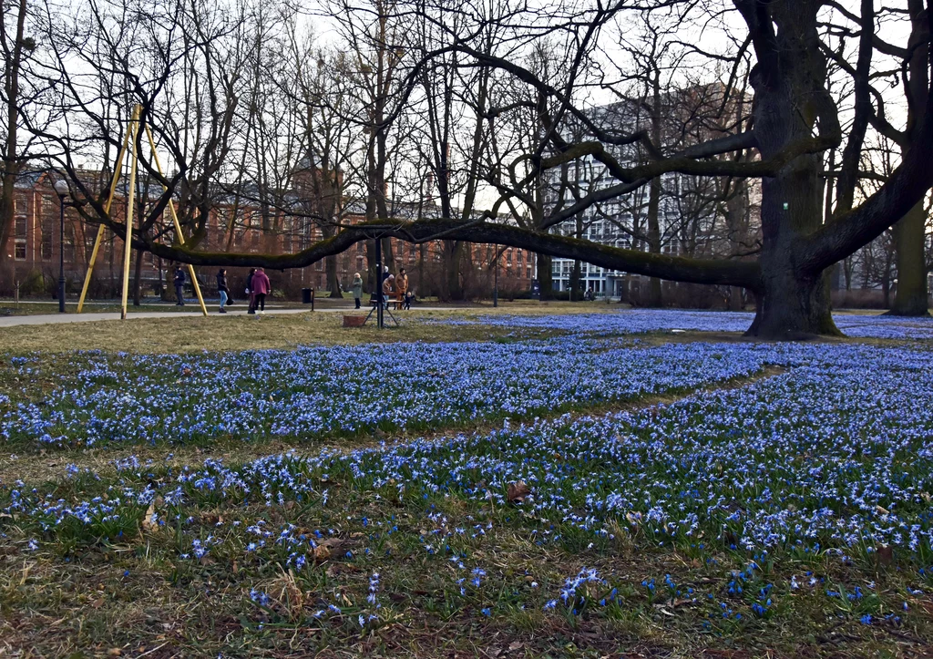
<path fill-rule="evenodd" d="M 745 3 L 746 19 L 759 23 L 762 6 Z M 755 133 L 759 152 L 772 158 L 788 145 L 829 132 L 834 116 L 820 113 L 825 102 L 826 61 L 818 47 L 818 4 L 773 6 L 771 20 L 760 23 L 775 51 L 750 76 L 755 88 Z M 824 125 L 825 124 L 825 125 Z M 807 236 L 823 225 L 822 154 L 789 161 L 775 176 L 761 181 L 761 288 L 758 313 L 748 334 L 793 340 L 804 336 L 840 335 L 832 320 L 829 277 L 801 263 Z"/>

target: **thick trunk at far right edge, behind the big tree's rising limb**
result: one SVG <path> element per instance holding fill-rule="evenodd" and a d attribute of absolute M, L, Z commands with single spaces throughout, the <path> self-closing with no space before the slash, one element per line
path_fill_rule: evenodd
<path fill-rule="evenodd" d="M 926 291 L 926 212 L 924 203 L 894 225 L 898 245 L 898 290 L 890 315 L 929 315 Z"/>

